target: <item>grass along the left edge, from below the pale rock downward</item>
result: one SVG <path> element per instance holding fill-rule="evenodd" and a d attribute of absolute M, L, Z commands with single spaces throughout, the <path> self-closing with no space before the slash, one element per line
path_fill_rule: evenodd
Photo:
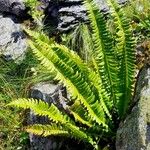
<path fill-rule="evenodd" d="M 22 150 L 29 141 L 28 134 L 23 130 L 26 113 L 19 109 L 10 109 L 6 104 L 12 99 L 27 97 L 30 86 L 50 80 L 51 77 L 30 51 L 21 64 L 6 62 L 0 58 L 0 68 L 0 150 Z"/>

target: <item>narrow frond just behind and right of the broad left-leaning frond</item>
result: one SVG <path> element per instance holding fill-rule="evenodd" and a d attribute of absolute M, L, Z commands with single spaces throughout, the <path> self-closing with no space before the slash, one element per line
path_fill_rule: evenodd
<path fill-rule="evenodd" d="M 95 90 L 97 90 L 96 92 L 99 93 L 99 98 L 97 100 L 99 100 L 99 102 L 101 104 L 99 106 L 101 106 L 103 108 L 104 112 L 108 115 L 108 117 L 111 118 L 109 110 L 105 104 L 106 99 L 108 102 L 109 96 L 108 96 L 108 93 L 106 92 L 106 90 L 102 86 L 101 78 L 98 77 L 98 75 L 92 69 L 88 68 L 87 65 L 85 65 L 83 63 L 83 61 L 80 59 L 80 57 L 78 55 L 76 55 L 76 53 L 74 53 L 73 51 L 70 51 L 67 47 L 65 47 L 63 45 L 59 45 L 59 44 L 54 44 L 52 47 L 57 48 L 56 51 L 57 51 L 58 56 L 63 56 L 65 54 L 67 55 L 62 58 L 64 60 L 65 64 L 67 64 L 69 67 L 72 67 L 73 70 L 78 70 L 78 72 L 80 71 L 81 74 L 84 73 L 83 78 L 87 78 L 90 88 L 92 88 L 93 86 L 96 87 Z M 62 52 L 58 53 L 59 50 Z M 71 61 L 70 58 L 73 59 L 72 63 L 70 63 L 70 61 Z"/>

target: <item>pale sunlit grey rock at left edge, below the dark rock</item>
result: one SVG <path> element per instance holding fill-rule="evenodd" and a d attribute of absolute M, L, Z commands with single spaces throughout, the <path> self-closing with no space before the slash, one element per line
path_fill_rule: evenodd
<path fill-rule="evenodd" d="M 27 44 L 21 25 L 13 21 L 13 17 L 0 15 L 0 54 L 8 60 L 23 60 Z"/>

